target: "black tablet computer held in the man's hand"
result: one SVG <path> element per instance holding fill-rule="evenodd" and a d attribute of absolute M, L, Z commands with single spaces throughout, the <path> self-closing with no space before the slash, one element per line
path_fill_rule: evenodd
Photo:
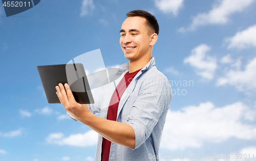
<path fill-rule="evenodd" d="M 48 103 L 60 103 L 56 88 L 68 83 L 76 102 L 93 104 L 94 99 L 82 63 L 37 66 Z"/>

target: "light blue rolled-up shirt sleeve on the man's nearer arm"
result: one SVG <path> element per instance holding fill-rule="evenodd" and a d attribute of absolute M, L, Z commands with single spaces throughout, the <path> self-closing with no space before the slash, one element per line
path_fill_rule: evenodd
<path fill-rule="evenodd" d="M 127 117 L 127 124 L 135 132 L 135 148 L 142 145 L 151 135 L 159 118 L 172 101 L 172 87 L 162 75 L 143 81 L 139 95 Z"/>

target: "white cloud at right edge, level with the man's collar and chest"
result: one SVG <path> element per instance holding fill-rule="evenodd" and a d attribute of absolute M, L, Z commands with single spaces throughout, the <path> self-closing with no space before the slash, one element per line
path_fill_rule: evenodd
<path fill-rule="evenodd" d="M 240 65 L 240 59 L 237 65 Z M 229 70 L 224 77 L 217 80 L 217 85 L 230 84 L 236 86 L 240 91 L 256 89 L 256 57 L 254 57 L 242 70 Z"/>

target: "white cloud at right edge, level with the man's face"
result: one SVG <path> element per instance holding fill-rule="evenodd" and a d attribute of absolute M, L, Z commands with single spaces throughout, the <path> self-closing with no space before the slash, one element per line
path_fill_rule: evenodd
<path fill-rule="evenodd" d="M 233 37 L 227 38 L 226 41 L 229 42 L 228 49 L 256 47 L 256 25 L 238 32 Z"/>

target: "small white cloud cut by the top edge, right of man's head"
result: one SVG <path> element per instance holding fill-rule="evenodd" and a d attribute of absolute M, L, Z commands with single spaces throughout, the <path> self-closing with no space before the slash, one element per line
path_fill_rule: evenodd
<path fill-rule="evenodd" d="M 173 13 L 175 16 L 183 6 L 184 0 L 155 0 L 156 7 L 164 13 Z"/>

